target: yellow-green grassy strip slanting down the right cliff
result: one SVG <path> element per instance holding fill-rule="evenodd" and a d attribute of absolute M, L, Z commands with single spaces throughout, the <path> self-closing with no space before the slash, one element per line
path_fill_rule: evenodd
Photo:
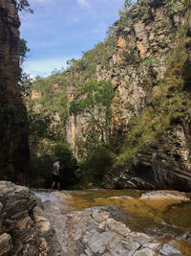
<path fill-rule="evenodd" d="M 188 15 L 190 20 L 190 13 Z M 191 75 L 189 49 L 190 22 L 180 27 L 177 45 L 166 58 L 166 73 L 147 95 L 147 104 L 141 115 L 132 118 L 125 145 L 116 165 L 129 164 L 138 151 L 146 151 L 178 124 L 190 123 Z"/>

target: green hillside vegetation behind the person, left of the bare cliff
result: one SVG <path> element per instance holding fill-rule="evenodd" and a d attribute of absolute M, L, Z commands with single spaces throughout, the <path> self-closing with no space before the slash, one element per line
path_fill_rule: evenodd
<path fill-rule="evenodd" d="M 60 174 L 63 175 L 61 184 L 65 188 L 78 183 L 94 182 L 97 177 L 101 182 L 100 176 L 103 177 L 103 173 L 112 166 L 113 154 L 109 148 L 112 143 L 111 105 L 114 90 L 110 82 L 96 81 L 96 63 L 99 63 L 100 67 L 104 66 L 114 53 L 113 33 L 114 28 L 109 28 L 104 42 L 98 43 L 94 49 L 84 53 L 81 59 L 69 60 L 69 68 L 66 71 L 54 70 L 53 75 L 47 79 L 36 77 L 30 86 L 26 83 L 30 87 L 28 109 L 31 127 L 30 184 L 32 186 L 51 185 L 53 161 L 58 158 L 56 149 L 61 145 L 63 155 L 59 154 L 62 160 Z M 74 101 L 71 105 L 67 105 L 67 88 L 71 84 L 77 89 L 74 92 Z M 88 132 L 85 131 L 86 140 L 76 142 L 80 145 L 78 155 L 83 159 L 76 165 L 72 150 L 66 142 L 65 125 L 69 115 L 79 113 L 86 113 L 91 119 Z M 85 154 L 84 150 L 86 150 Z M 95 154 L 92 155 L 93 152 Z M 70 159 L 65 158 L 65 154 L 70 155 Z M 101 175 L 96 175 L 98 170 L 92 167 L 91 159 L 94 161 L 95 157 L 98 157 L 97 162 L 104 162 L 105 167 Z M 88 176 L 90 178 L 87 178 Z"/>

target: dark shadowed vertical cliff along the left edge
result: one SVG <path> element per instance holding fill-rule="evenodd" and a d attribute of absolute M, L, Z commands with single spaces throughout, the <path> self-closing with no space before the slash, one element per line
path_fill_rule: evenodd
<path fill-rule="evenodd" d="M 16 2 L 0 1 L 1 178 L 27 183 L 29 149 L 26 109 L 19 94 L 19 26 Z"/>

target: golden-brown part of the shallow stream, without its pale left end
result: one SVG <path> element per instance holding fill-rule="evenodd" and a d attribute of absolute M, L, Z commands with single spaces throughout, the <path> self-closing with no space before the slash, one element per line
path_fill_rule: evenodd
<path fill-rule="evenodd" d="M 117 205 L 128 214 L 127 224 L 135 220 L 138 231 L 155 232 L 162 228 L 172 233 L 181 234 L 191 230 L 191 201 L 181 198 L 140 198 L 144 192 L 135 190 L 123 191 L 71 191 L 66 198 L 67 210 L 63 213 L 82 210 L 92 206 Z M 137 224 L 141 222 L 142 224 Z M 124 222 L 124 221 L 123 221 Z M 157 230 L 159 232 L 159 230 Z"/>

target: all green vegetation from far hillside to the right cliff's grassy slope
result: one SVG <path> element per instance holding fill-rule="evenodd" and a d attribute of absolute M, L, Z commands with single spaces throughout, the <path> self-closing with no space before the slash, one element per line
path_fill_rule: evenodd
<path fill-rule="evenodd" d="M 123 10 L 119 12 L 119 28 L 132 28 L 130 8 L 133 2 L 125 1 Z M 187 10 L 190 4 L 185 0 L 166 1 L 165 10 L 172 18 L 180 10 Z M 147 2 L 138 1 L 136 5 L 142 19 L 148 19 L 151 13 Z M 114 27 L 109 28 L 104 42 L 84 53 L 82 58 L 70 60 L 66 71 L 53 72 L 47 79 L 37 77 L 32 82 L 33 97 L 28 101 L 32 186 L 50 186 L 52 165 L 57 158 L 62 159 L 60 174 L 65 187 L 101 185 L 108 171 L 128 167 L 138 151 L 147 151 L 151 144 L 158 145 L 161 137 L 176 125 L 189 124 L 191 77 L 187 49 L 191 45 L 190 12 L 186 15 L 186 22 L 172 34 L 168 22 L 163 20 L 163 29 L 171 41 L 176 40 L 176 47 L 168 49 L 163 63 L 166 72 L 162 79 L 151 81 L 151 77 L 145 76 L 145 106 L 139 115 L 130 118 L 128 125 L 122 119 L 115 120 L 114 102 L 119 105 L 118 111 L 121 109 L 115 98 L 114 85 L 111 81 L 97 81 L 96 77 L 102 68 L 110 68 L 110 58 L 117 46 Z M 156 28 L 156 34 L 159 29 Z M 167 38 L 162 43 L 167 48 L 165 40 Z M 148 72 L 158 64 L 158 58 L 154 53 L 142 60 L 135 48 L 125 48 L 115 68 L 117 65 L 135 65 Z M 67 103 L 68 87 L 74 88 L 70 105 Z M 82 137 L 75 141 L 77 164 L 66 142 L 65 127 L 70 116 L 88 117 Z"/>

